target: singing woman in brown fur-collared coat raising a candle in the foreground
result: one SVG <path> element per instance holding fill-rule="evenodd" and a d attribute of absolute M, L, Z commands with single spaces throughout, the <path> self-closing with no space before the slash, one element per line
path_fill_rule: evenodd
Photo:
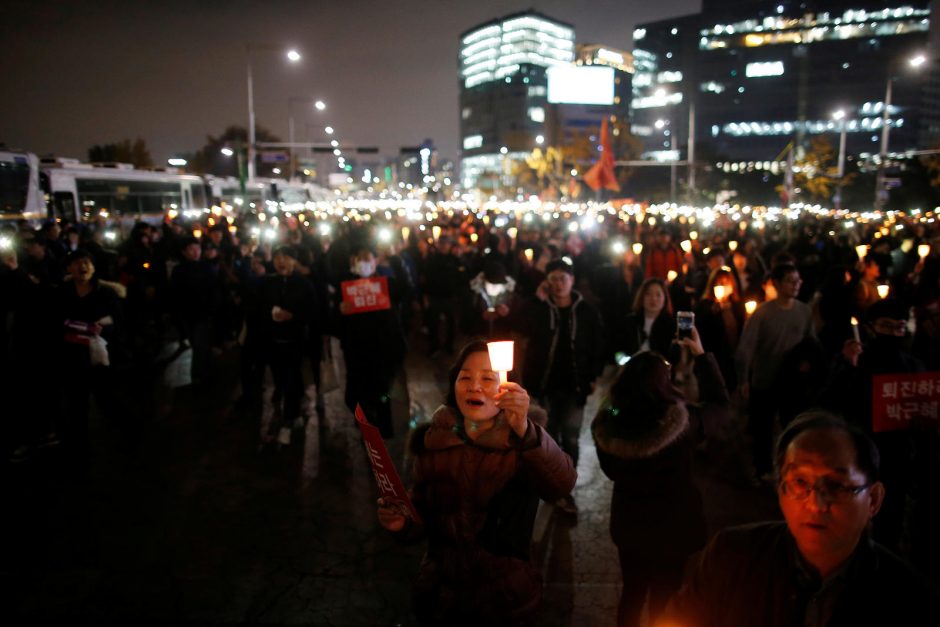
<path fill-rule="evenodd" d="M 529 544 L 539 498 L 571 492 L 571 458 L 539 425 L 529 395 L 499 382 L 486 344 L 466 346 L 445 404 L 411 440 L 412 500 L 421 522 L 379 502 L 379 522 L 427 539 L 413 605 L 422 625 L 517 625 L 541 600 Z"/>

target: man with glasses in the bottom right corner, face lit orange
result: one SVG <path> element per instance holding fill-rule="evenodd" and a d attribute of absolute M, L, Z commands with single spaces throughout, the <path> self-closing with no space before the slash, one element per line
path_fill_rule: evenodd
<path fill-rule="evenodd" d="M 868 436 L 834 415 L 805 413 L 781 434 L 774 470 L 786 522 L 718 533 L 690 559 L 670 622 L 659 625 L 937 621 L 935 592 L 869 534 L 885 488 Z"/>

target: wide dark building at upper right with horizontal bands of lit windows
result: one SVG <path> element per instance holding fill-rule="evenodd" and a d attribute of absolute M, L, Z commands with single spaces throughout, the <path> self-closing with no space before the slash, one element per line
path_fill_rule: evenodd
<path fill-rule="evenodd" d="M 838 145 L 843 123 L 848 154 L 877 155 L 887 117 L 890 152 L 915 148 L 922 121 L 940 136 L 940 115 L 919 115 L 928 72 L 906 63 L 926 48 L 930 4 L 703 0 L 699 14 L 641 24 L 634 133 L 648 158 L 681 159 L 694 122 L 698 158 L 777 168 L 791 141 L 828 135 Z"/>

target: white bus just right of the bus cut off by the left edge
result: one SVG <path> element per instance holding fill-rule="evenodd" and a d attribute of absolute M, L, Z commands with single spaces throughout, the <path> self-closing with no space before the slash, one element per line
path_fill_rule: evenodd
<path fill-rule="evenodd" d="M 50 214 L 69 222 L 104 220 L 127 228 L 137 220 L 158 224 L 168 215 L 195 218 L 209 211 L 205 183 L 192 174 L 57 159 L 40 164 L 39 184 Z"/>

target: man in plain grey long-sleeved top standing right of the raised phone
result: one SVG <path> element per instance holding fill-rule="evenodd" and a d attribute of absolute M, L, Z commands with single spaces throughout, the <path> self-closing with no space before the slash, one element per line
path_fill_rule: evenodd
<path fill-rule="evenodd" d="M 814 338 L 813 313 L 797 300 L 800 273 L 796 266 L 782 263 L 770 273 L 777 297 L 766 301 L 744 324 L 735 355 L 739 392 L 747 401 L 747 431 L 751 439 L 754 479 L 771 481 L 770 448 L 774 420 L 792 390 L 780 389 L 781 364 L 803 340 Z M 781 417 L 783 426 L 795 412 Z"/>

